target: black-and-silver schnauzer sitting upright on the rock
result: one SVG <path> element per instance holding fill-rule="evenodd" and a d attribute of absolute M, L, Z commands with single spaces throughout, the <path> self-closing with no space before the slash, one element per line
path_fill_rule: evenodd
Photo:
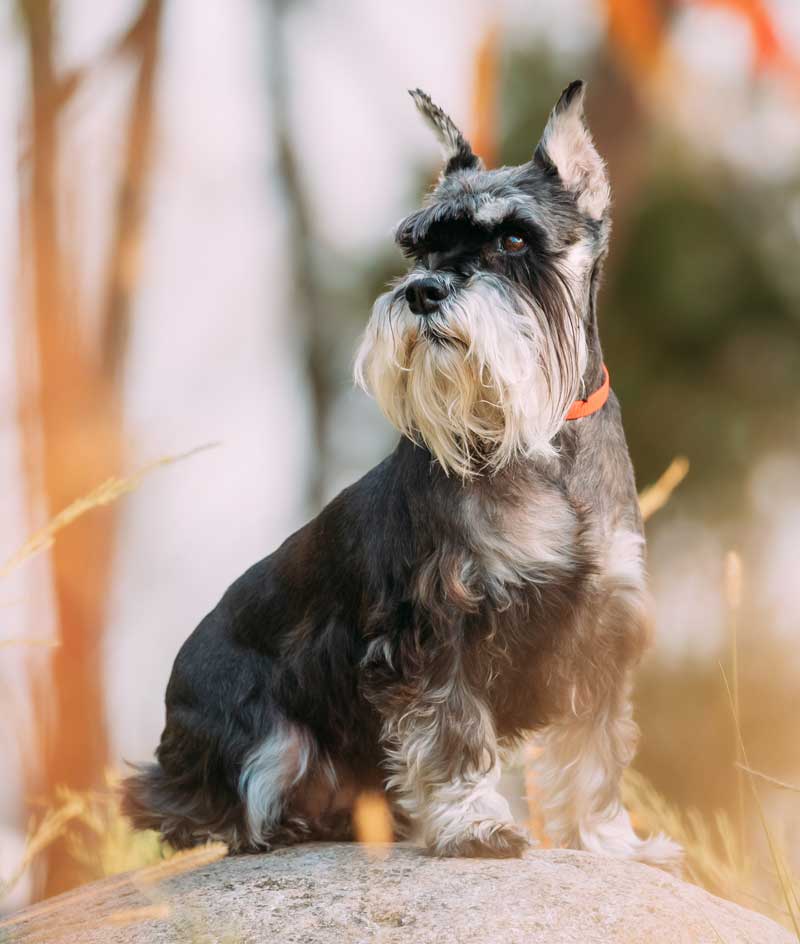
<path fill-rule="evenodd" d="M 648 638 L 642 521 L 597 293 L 609 181 L 569 85 L 531 159 L 486 170 L 411 93 L 444 166 L 396 240 L 358 383 L 402 434 L 224 594 L 180 650 L 135 826 L 233 852 L 352 837 L 381 791 L 439 856 L 529 846 L 498 792 L 532 735 L 555 845 L 677 860 L 620 800 Z"/>

